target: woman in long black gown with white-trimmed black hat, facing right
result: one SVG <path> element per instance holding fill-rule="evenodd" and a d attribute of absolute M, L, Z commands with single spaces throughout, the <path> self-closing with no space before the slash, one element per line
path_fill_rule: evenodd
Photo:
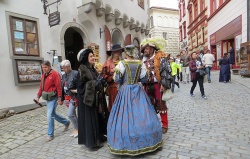
<path fill-rule="evenodd" d="M 100 148 L 106 141 L 108 109 L 100 76 L 94 68 L 91 49 L 83 49 L 77 59 L 80 63 L 77 77 L 78 144 Z"/>

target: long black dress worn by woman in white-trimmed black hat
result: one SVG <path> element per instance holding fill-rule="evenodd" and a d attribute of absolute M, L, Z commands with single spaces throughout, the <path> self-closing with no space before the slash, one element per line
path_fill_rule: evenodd
<path fill-rule="evenodd" d="M 78 144 L 87 148 L 100 146 L 106 141 L 107 121 L 109 112 L 103 87 L 99 85 L 91 95 L 95 96 L 93 105 L 84 104 L 84 93 L 86 82 L 96 80 L 98 73 L 94 68 L 81 65 L 77 76 L 77 97 L 78 97 Z"/>

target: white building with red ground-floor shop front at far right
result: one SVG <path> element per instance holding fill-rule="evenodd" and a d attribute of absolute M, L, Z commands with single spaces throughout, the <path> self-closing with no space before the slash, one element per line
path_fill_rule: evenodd
<path fill-rule="evenodd" d="M 240 44 L 247 42 L 247 1 L 211 0 L 209 3 L 208 41 L 215 58 L 215 67 L 223 53 L 230 52 L 239 67 Z"/>

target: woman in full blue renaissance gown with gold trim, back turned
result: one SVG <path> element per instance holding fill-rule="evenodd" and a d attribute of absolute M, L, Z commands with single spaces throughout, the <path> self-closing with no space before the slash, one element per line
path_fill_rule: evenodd
<path fill-rule="evenodd" d="M 115 68 L 120 84 L 108 120 L 108 146 L 112 154 L 140 155 L 162 147 L 161 123 L 139 82 L 146 82 L 146 66 L 136 60 L 137 49 L 125 47 L 126 59 Z"/>

